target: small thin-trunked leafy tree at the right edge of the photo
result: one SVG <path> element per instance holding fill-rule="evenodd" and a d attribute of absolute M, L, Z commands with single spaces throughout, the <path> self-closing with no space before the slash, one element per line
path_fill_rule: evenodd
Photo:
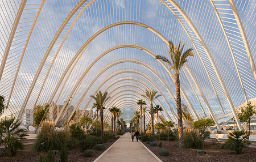
<path fill-rule="evenodd" d="M 249 147 L 249 138 L 250 138 L 250 122 L 253 119 L 253 116 L 256 114 L 255 105 L 251 105 L 251 102 L 248 101 L 245 107 L 241 108 L 241 113 L 238 114 L 238 118 L 241 122 L 247 122 L 249 128 L 248 138 L 247 138 L 247 147 Z"/>

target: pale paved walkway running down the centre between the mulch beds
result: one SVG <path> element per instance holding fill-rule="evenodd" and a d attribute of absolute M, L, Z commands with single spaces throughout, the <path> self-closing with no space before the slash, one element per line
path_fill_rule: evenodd
<path fill-rule="evenodd" d="M 144 148 L 141 142 L 131 142 L 131 134 L 124 134 L 106 153 L 97 160 L 97 162 L 105 161 L 158 161 Z"/>

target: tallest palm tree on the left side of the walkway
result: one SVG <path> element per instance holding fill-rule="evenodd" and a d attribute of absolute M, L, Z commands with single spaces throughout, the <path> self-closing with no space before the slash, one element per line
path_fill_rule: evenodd
<path fill-rule="evenodd" d="M 102 94 L 101 91 L 98 91 L 96 93 L 96 96 L 91 95 L 90 97 L 92 97 L 96 101 L 96 104 L 100 108 L 100 112 L 101 112 L 101 114 L 100 114 L 101 115 L 101 136 L 103 136 L 104 135 L 103 109 L 104 109 L 104 104 L 106 103 L 106 101 L 108 101 L 110 99 L 110 96 L 108 96 L 108 92 L 104 92 Z"/>

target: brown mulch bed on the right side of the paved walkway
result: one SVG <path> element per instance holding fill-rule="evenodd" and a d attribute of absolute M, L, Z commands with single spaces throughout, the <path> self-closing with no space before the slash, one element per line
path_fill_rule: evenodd
<path fill-rule="evenodd" d="M 159 141 L 156 141 L 159 143 Z M 152 147 L 150 144 L 143 144 L 149 148 L 156 156 L 158 156 L 162 161 L 256 161 L 256 148 L 245 148 L 241 155 L 236 155 L 233 151 L 225 149 L 217 149 L 217 144 L 205 143 L 205 154 L 200 156 L 196 154 L 196 149 L 180 149 L 177 148 L 177 141 L 161 141 L 163 143 L 162 147 Z M 169 156 L 160 156 L 159 151 L 165 149 L 170 151 Z"/>

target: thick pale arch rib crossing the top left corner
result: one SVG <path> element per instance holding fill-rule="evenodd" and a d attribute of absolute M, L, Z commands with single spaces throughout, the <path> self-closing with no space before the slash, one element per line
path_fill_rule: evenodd
<path fill-rule="evenodd" d="M 5 64 L 6 64 L 8 55 L 9 55 L 11 44 L 13 43 L 14 35 L 15 35 L 16 29 L 18 27 L 19 20 L 22 16 L 24 7 L 26 6 L 26 3 L 27 3 L 27 0 L 22 0 L 22 2 L 20 3 L 19 10 L 16 14 L 16 17 L 15 17 L 15 20 L 13 23 L 13 27 L 11 28 L 10 36 L 9 36 L 8 42 L 6 44 L 5 53 L 3 54 L 3 58 L 2 58 L 2 62 L 1 62 L 0 81 L 2 79 L 3 70 L 5 69 Z"/>

